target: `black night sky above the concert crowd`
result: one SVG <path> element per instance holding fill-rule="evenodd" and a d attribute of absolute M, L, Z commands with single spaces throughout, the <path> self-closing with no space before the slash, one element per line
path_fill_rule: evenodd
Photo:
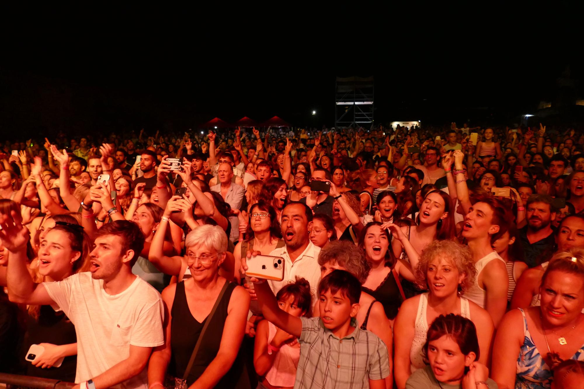
<path fill-rule="evenodd" d="M 215 116 L 332 126 L 337 75 L 375 77 L 377 122 L 481 120 L 553 99 L 566 65 L 582 76 L 579 35 L 561 6 L 541 10 L 543 20 L 410 10 L 380 23 L 347 19 L 352 6 L 255 23 L 208 12 L 181 20 L 182 10 L 51 11 L 5 35 L 1 134 L 186 130 Z"/>

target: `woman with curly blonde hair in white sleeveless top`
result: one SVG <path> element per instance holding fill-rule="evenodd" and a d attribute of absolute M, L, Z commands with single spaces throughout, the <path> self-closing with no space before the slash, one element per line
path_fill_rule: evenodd
<path fill-rule="evenodd" d="M 395 319 L 394 371 L 399 389 L 405 388 L 413 371 L 426 365 L 422 348 L 429 323 L 439 315 L 460 315 L 474 323 L 481 350 L 479 362 L 483 364 L 491 355 L 495 328 L 489 312 L 462 297 L 477 276 L 467 246 L 448 240 L 433 241 L 423 249 L 415 271 L 420 287 L 428 291 L 405 300 Z"/>

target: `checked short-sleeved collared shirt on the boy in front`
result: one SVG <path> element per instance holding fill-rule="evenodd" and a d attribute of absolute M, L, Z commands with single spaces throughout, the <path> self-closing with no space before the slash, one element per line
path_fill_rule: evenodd
<path fill-rule="evenodd" d="M 363 389 L 369 388 L 369 380 L 390 375 L 387 346 L 372 332 L 360 329 L 354 318 L 353 332 L 343 339 L 325 328 L 318 317 L 300 319 L 300 361 L 294 389 Z"/>

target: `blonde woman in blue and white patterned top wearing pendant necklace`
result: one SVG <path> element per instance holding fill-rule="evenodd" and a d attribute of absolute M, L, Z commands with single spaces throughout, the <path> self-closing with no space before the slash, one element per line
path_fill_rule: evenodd
<path fill-rule="evenodd" d="M 557 253 L 541 279 L 541 305 L 507 312 L 495 337 L 501 389 L 550 388 L 555 359 L 584 360 L 584 251 Z"/>

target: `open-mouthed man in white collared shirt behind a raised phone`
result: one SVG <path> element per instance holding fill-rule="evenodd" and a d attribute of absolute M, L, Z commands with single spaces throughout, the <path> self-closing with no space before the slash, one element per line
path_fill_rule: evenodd
<path fill-rule="evenodd" d="M 290 202 L 282 210 L 281 223 L 284 247 L 276 248 L 270 255 L 284 258 L 284 279 L 281 281 L 269 280 L 268 283 L 274 294 L 286 284 L 296 282 L 296 277 L 303 277 L 310 283 L 312 305 L 317 301 L 318 283 L 321 280 L 321 266 L 318 265 L 318 254 L 321 248 L 315 246 L 309 239 L 312 230 L 312 211 L 305 204 Z M 260 252 L 255 252 L 260 254 Z M 247 259 L 252 255 L 248 251 Z M 246 258 L 241 259 L 241 267 L 248 269 Z M 255 297 L 253 289 L 248 289 Z"/>

